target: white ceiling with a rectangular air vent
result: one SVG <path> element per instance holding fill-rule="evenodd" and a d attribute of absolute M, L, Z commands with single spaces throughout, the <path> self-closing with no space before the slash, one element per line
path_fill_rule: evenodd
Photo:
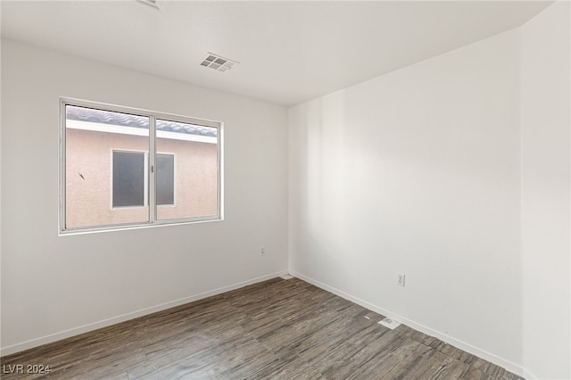
<path fill-rule="evenodd" d="M 3 38 L 290 106 L 513 29 L 550 2 L 1 4 Z M 241 63 L 206 69 L 207 52 Z"/>

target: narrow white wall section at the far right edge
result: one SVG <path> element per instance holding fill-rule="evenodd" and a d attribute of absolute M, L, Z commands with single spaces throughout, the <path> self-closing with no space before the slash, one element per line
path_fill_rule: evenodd
<path fill-rule="evenodd" d="M 522 263 L 527 378 L 571 378 L 571 4 L 521 29 Z"/>

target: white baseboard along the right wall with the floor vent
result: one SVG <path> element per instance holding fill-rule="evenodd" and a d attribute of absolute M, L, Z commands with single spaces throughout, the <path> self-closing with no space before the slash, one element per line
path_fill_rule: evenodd
<path fill-rule="evenodd" d="M 506 359 L 502 359 L 488 351 L 484 351 L 484 350 L 480 350 L 477 347 L 468 344 L 468 343 L 464 343 L 450 335 L 446 335 L 443 334 L 440 331 L 436 331 L 428 326 L 424 326 L 421 325 L 415 321 L 410 320 L 409 318 L 404 318 L 398 314 L 395 314 L 393 312 L 391 312 L 390 310 L 385 310 L 377 305 L 374 305 L 370 302 L 366 302 L 361 300 L 358 297 L 353 296 L 352 294 L 348 294 L 348 293 L 344 293 L 343 291 L 336 289 L 335 287 L 323 284 L 321 282 L 319 282 L 318 280 L 315 280 L 311 277 L 307 277 L 307 276 L 303 276 L 300 273 L 297 273 L 295 271 L 290 270 L 290 274 L 294 277 L 298 277 L 300 279 L 302 279 L 303 281 L 307 281 L 308 283 L 312 284 L 312 285 L 316 285 L 319 288 L 323 289 L 323 290 L 327 290 L 327 292 L 330 293 L 334 293 L 342 298 L 344 298 L 345 300 L 357 303 L 358 305 L 367 308 L 368 310 L 372 310 L 375 311 L 385 317 L 389 317 L 392 318 L 398 322 L 401 322 L 401 324 L 409 326 L 410 328 L 414 328 L 415 330 L 420 331 L 421 333 L 424 333 L 426 335 L 430 335 L 430 336 L 434 336 L 435 338 L 440 339 L 441 341 L 445 342 L 445 343 L 449 343 L 451 345 L 453 345 L 454 347 L 459 348 L 462 351 L 467 351 L 468 353 L 471 353 L 472 355 L 476 355 L 478 358 L 482 358 L 484 360 L 487 360 L 497 366 L 500 366 L 501 368 L 505 368 L 507 370 L 509 370 L 509 372 L 512 372 L 514 374 L 516 374 L 517 376 L 525 376 L 526 379 L 534 379 L 535 376 L 531 376 L 531 374 L 525 370 L 525 368 L 522 368 L 521 366 L 512 363 L 509 360 Z"/>

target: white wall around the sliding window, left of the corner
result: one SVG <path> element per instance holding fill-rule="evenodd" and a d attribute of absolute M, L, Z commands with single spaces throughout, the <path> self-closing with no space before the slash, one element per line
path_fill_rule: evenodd
<path fill-rule="evenodd" d="M 223 121 L 226 219 L 59 237 L 59 96 Z M 2 354 L 286 272 L 286 120 L 269 103 L 3 40 Z"/>

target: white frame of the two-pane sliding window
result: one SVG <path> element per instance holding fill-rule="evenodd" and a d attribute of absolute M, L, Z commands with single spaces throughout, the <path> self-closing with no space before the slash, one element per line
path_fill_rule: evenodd
<path fill-rule="evenodd" d="M 128 223 L 128 224 L 115 224 L 115 225 L 105 225 L 105 226 L 97 226 L 97 227 L 74 227 L 74 228 L 67 228 L 65 227 L 65 214 L 66 214 L 66 204 L 65 204 L 65 194 L 66 194 L 66 128 L 67 128 L 67 120 L 66 120 L 66 106 L 78 106 L 78 107 L 87 107 L 87 108 L 94 108 L 102 111 L 109 111 L 109 112 L 124 112 L 129 114 L 135 114 L 139 116 L 148 117 L 150 120 L 149 126 L 149 156 L 152 157 L 151 160 L 145 160 L 152 165 L 151 170 L 146 170 L 145 176 L 148 173 L 150 176 L 150 180 L 148 181 L 148 191 L 151 193 L 150 197 L 145 197 L 145 203 L 147 203 L 147 199 L 152 200 L 152 204 L 149 207 L 149 221 L 148 222 L 137 222 L 137 223 Z M 185 136 L 186 139 L 189 141 L 197 141 L 203 143 L 211 143 L 217 145 L 217 210 L 218 213 L 216 215 L 208 215 L 208 216 L 199 216 L 199 217 L 189 217 L 189 218 L 180 218 L 180 219 L 157 219 L 157 207 L 173 207 L 177 204 L 177 197 L 176 197 L 176 176 L 177 170 L 175 166 L 175 198 L 174 198 L 174 205 L 171 204 L 164 204 L 164 205 L 156 205 L 155 196 L 156 193 L 156 138 L 169 138 L 171 132 L 164 132 L 164 131 L 157 131 L 156 130 L 156 120 L 171 120 L 174 122 L 181 122 L 181 123 L 188 123 L 194 124 L 197 126 L 209 127 L 209 128 L 217 128 L 218 133 L 217 137 L 205 137 L 205 136 Z M 71 120 L 70 120 L 71 121 Z M 81 123 L 81 122 L 79 122 Z M 122 229 L 132 229 L 132 228 L 141 228 L 141 227 L 162 227 L 168 225 L 178 225 L 178 224 L 188 224 L 188 223 L 197 223 L 197 222 L 210 222 L 216 220 L 224 220 L 224 164 L 223 164 L 223 144 L 224 144 L 224 123 L 215 120 L 203 120 L 192 118 L 188 116 L 170 114 L 165 112 L 156 112 L 126 106 L 120 106 L 110 103 L 100 103 L 100 102 L 91 102 L 81 99 L 75 99 L 70 97 L 61 97 L 60 98 L 60 141 L 59 141 L 59 152 L 60 152 L 60 176 L 59 176 L 59 211 L 60 211 L 60 218 L 59 218 L 59 235 L 77 235 L 77 234 L 85 234 L 85 233 L 92 233 L 92 232 L 103 232 L 103 231 L 115 231 L 115 230 L 122 230 Z M 74 127 L 70 127 L 74 128 Z M 86 129 L 85 127 L 79 127 L 82 129 Z M 136 132 L 137 133 L 137 132 Z M 180 134 L 172 134 L 180 135 Z M 128 150 L 124 149 L 113 149 L 112 151 L 123 151 L 128 152 Z M 140 152 L 140 151 L 139 151 Z M 172 153 L 164 153 L 164 154 L 172 154 Z M 175 165 L 176 165 L 176 154 L 175 156 Z M 146 167 L 145 163 L 145 167 Z M 111 176 L 112 181 L 112 176 Z M 112 207 L 112 200 L 111 200 L 111 207 Z M 132 207 L 141 207 L 141 206 L 132 206 Z M 113 210 L 124 209 L 121 208 L 113 208 Z"/>

